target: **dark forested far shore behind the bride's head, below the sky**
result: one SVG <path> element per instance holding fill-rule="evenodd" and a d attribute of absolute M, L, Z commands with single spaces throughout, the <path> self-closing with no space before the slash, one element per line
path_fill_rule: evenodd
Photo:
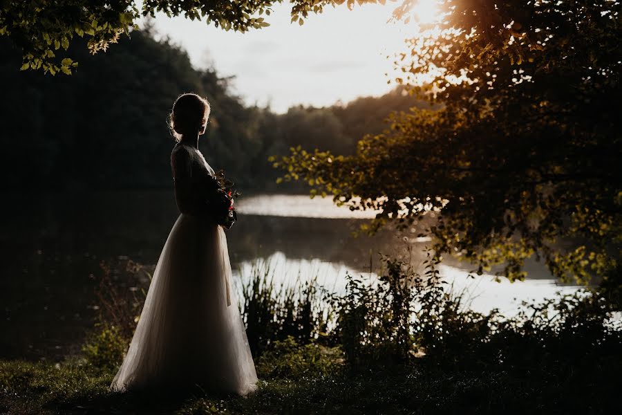
<path fill-rule="evenodd" d="M 185 50 L 134 31 L 106 53 L 86 55 L 71 76 L 20 72 L 20 56 L 0 43 L 2 187 L 84 189 L 169 187 L 167 127 L 173 100 L 183 92 L 207 96 L 212 115 L 201 149 L 215 169 L 224 168 L 238 187 L 277 188 L 268 156 L 289 147 L 355 151 L 366 133 L 386 128 L 391 111 L 416 102 L 402 90 L 332 107 L 292 107 L 285 114 L 247 107 L 229 88 L 229 78 L 196 69 Z"/>

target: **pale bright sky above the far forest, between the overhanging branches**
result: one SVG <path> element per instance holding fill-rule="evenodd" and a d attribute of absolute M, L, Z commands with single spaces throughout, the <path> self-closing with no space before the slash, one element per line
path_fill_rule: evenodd
<path fill-rule="evenodd" d="M 283 113 L 296 104 L 322 107 L 393 89 L 387 81 L 397 72 L 387 56 L 404 50 L 413 32 L 387 23 L 395 5 L 329 6 L 300 26 L 290 24 L 288 3 L 277 4 L 266 17 L 271 26 L 247 33 L 165 15 L 156 15 L 155 26 L 188 51 L 194 66 L 234 75 L 233 91 L 247 104 Z"/>

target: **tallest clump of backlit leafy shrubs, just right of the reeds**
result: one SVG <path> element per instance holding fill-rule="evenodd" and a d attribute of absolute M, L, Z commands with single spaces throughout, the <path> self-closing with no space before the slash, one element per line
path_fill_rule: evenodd
<path fill-rule="evenodd" d="M 440 361 L 487 342 L 496 312 L 469 310 L 465 293 L 440 278 L 431 252 L 421 275 L 404 261 L 383 261 L 376 281 L 348 275 L 346 294 L 330 296 L 339 316 L 334 335 L 350 367 L 403 364 L 422 355 Z"/>

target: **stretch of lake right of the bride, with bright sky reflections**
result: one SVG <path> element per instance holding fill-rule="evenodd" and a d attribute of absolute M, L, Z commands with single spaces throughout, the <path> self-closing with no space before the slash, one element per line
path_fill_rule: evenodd
<path fill-rule="evenodd" d="M 250 274 L 253 259 L 267 258 L 277 282 L 293 275 L 301 282 L 317 277 L 319 284 L 343 292 L 346 273 L 375 275 L 379 253 L 408 259 L 418 272 L 424 272 L 422 261 L 428 244 L 408 237 L 417 231 L 395 234 L 385 230 L 373 238 L 351 236 L 359 225 L 356 219 L 373 217 L 374 212 L 350 212 L 332 205 L 330 199 L 283 195 L 255 196 L 241 203 L 240 210 L 247 216 L 229 235 L 236 263 L 241 266 L 238 275 Z M 282 217 L 286 215 L 295 217 Z M 471 308 L 482 313 L 498 308 L 512 315 L 522 301 L 538 302 L 576 290 L 576 286 L 558 284 L 536 261 L 527 262 L 529 277 L 516 283 L 493 275 L 469 275 L 472 268 L 448 259 L 440 266 L 440 274 L 456 291 L 464 291 Z"/>

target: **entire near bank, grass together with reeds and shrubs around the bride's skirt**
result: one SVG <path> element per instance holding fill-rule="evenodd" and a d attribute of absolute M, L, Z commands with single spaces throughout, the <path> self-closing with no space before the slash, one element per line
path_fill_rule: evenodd
<path fill-rule="evenodd" d="M 317 291 L 252 284 L 243 311 L 260 380 L 246 398 L 109 391 L 135 324 L 128 306 L 110 314 L 127 322 L 102 315 L 83 356 L 0 360 L 0 414 L 622 414 L 619 291 L 482 315 L 446 291 L 433 261 L 426 278 L 387 266 L 375 285 L 348 277 L 327 313 Z M 102 304 L 132 304 L 107 289 Z"/>

